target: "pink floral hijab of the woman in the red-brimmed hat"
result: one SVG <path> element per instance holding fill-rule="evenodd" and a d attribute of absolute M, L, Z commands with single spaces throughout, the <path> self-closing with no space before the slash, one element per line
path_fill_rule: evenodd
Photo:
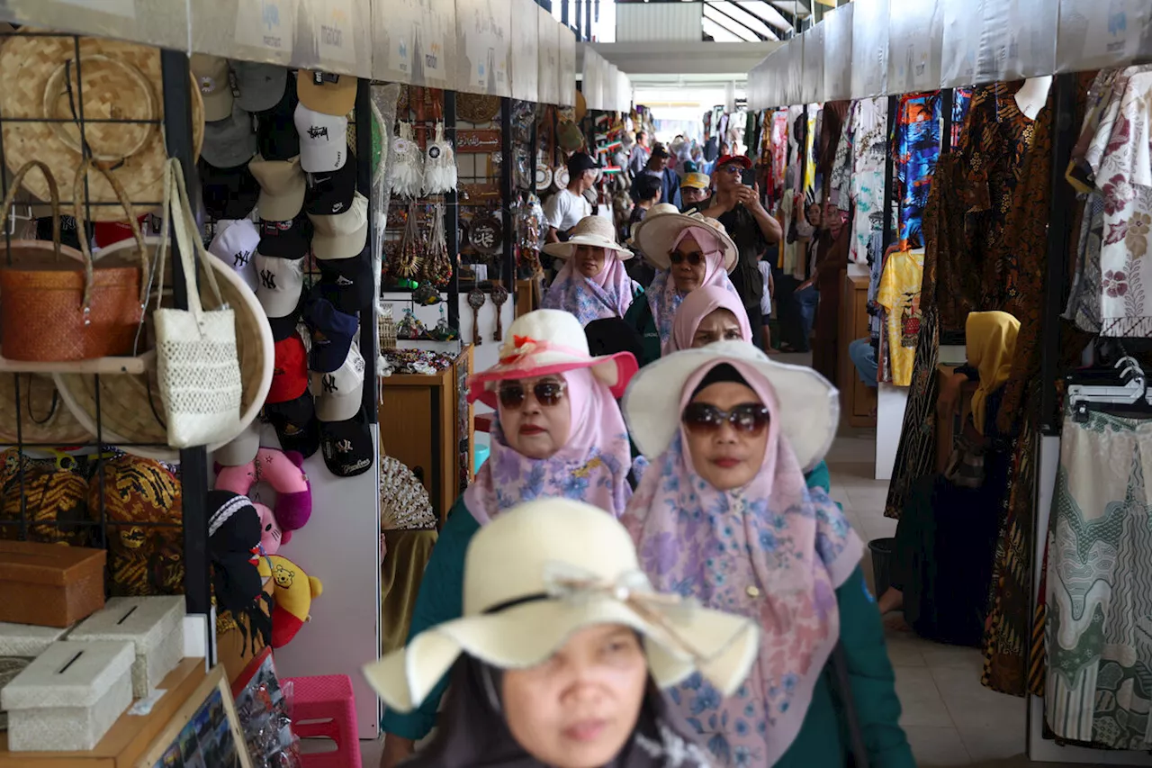
<path fill-rule="evenodd" d="M 631 451 L 620 406 L 590 369 L 560 376 L 568 384 L 573 431 L 551 458 L 517 453 L 505 439 L 499 415 L 493 420 L 492 452 L 464 491 L 464 505 L 482 526 L 508 507 L 544 496 L 594 504 L 617 518 L 624 511 L 631 497 Z"/>

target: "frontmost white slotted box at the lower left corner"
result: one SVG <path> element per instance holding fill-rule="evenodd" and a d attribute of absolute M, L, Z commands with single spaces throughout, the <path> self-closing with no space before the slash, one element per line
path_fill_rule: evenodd
<path fill-rule="evenodd" d="M 132 703 L 130 642 L 53 643 L 0 691 L 12 752 L 92 750 Z"/>

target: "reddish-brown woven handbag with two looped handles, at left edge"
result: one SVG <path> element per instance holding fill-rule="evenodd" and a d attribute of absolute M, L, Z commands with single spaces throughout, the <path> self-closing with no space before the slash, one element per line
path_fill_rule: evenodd
<path fill-rule="evenodd" d="M 60 193 L 48 166 L 25 163 L 12 180 L 3 199 L 6 226 L 21 182 L 39 168 L 48 185 L 52 205 L 52 242 L 13 240 L 9 258 L 0 266 L 0 354 L 8 360 L 70 362 L 134 354 L 132 345 L 147 298 L 141 265 L 144 238 L 136 213 L 115 176 L 91 159 L 76 171 L 76 227 L 81 250 L 60 244 Z M 136 239 L 141 265 L 121 257 L 93 265 L 84 236 L 84 180 L 94 168 L 112 185 Z M 48 254 L 53 256 L 48 258 Z M 61 258 L 65 256 L 66 258 Z M 146 269 L 146 268 L 145 268 Z"/>

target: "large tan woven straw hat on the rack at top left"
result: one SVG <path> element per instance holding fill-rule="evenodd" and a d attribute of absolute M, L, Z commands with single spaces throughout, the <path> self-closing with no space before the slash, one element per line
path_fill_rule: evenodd
<path fill-rule="evenodd" d="M 81 37 L 77 67 L 74 39 L 16 35 L 0 47 L 5 161 L 13 171 L 28 160 L 45 163 L 58 180 L 60 198 L 71 201 L 73 179 L 86 143 L 94 159 L 111 168 L 128 198 L 141 205 L 138 212 L 144 212 L 152 208 L 145 203 L 159 205 L 164 201 L 168 159 L 160 51 L 134 43 Z M 195 80 L 190 90 L 192 149 L 198 157 L 204 141 L 204 103 Z M 77 100 L 81 91 L 83 104 Z M 81 114 L 81 108 L 85 119 L 83 137 L 74 116 Z M 66 122 L 30 122 L 45 118 Z M 108 119 L 154 122 L 93 122 Z M 41 201 L 48 199 L 47 183 L 37 174 L 24 179 L 24 188 Z M 115 203 L 116 195 L 103 175 L 91 174 L 89 199 Z M 119 204 L 92 205 L 86 218 L 116 221 L 126 216 Z"/>

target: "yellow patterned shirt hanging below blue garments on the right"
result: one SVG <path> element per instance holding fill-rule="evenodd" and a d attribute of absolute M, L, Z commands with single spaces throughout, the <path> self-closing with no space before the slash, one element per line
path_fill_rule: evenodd
<path fill-rule="evenodd" d="M 885 308 L 888 332 L 888 364 L 892 383 L 909 386 L 916 344 L 920 334 L 920 283 L 924 278 L 924 250 L 897 250 L 888 255 L 880 277 L 876 301 Z"/>

